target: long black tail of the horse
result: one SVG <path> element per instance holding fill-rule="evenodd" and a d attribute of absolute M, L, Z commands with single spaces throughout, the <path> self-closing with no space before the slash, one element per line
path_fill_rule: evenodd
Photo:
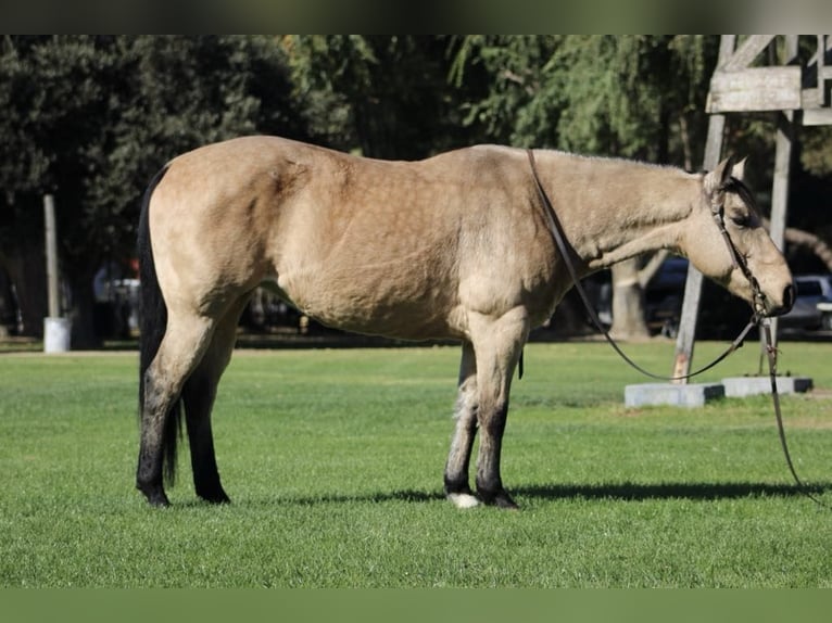
<path fill-rule="evenodd" d="M 141 204 L 138 232 L 139 280 L 141 283 L 141 323 L 139 336 L 139 417 L 144 410 L 144 377 L 159 352 L 167 327 L 167 306 L 159 287 L 153 250 L 150 245 L 150 199 L 167 167 L 151 180 Z M 176 400 L 165 414 L 162 433 L 165 480 L 173 484 L 176 479 L 176 447 L 181 431 L 181 400 Z"/>

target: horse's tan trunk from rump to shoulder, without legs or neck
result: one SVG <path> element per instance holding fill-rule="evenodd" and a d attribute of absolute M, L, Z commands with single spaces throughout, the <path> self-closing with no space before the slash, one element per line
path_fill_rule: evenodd
<path fill-rule="evenodd" d="M 200 148 L 172 161 L 154 193 L 160 279 L 191 307 L 228 305 L 267 280 L 325 323 L 462 336 L 462 309 L 499 313 L 495 301 L 521 302 L 532 272 L 549 277 L 546 251 L 532 257 L 540 228 L 517 155 L 378 161 L 274 137 Z"/>

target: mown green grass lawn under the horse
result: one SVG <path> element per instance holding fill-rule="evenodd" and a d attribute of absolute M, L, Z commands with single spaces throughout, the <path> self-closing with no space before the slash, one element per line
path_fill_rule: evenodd
<path fill-rule="evenodd" d="M 722 344 L 696 346 L 704 363 Z M 672 344 L 628 345 L 669 371 Z M 786 342 L 798 473 L 832 504 L 832 345 Z M 749 342 L 704 380 L 756 372 Z M 214 418 L 232 504 L 134 488 L 137 356 L 0 355 L 3 587 L 832 587 L 832 510 L 797 494 L 770 399 L 626 409 L 605 344 L 534 344 L 503 476 L 519 512 L 441 496 L 457 348 L 238 352 Z"/>

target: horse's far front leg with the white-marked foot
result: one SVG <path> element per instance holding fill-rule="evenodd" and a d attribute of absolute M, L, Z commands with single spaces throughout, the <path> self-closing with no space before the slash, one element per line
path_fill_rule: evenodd
<path fill-rule="evenodd" d="M 445 496 L 458 508 L 470 508 L 478 504 L 468 486 L 468 466 L 477 434 L 477 361 L 470 342 L 463 343 L 455 416 L 456 429 L 445 463 Z"/>

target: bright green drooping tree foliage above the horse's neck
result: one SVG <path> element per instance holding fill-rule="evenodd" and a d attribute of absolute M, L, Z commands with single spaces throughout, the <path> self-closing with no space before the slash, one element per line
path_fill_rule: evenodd
<path fill-rule="evenodd" d="M 652 161 L 676 149 L 682 160 L 684 131 L 703 125 L 715 40 L 469 36 L 456 44 L 451 78 L 462 86 L 471 71 L 484 74 L 487 93 L 465 104 L 465 122 L 500 142 Z"/>

